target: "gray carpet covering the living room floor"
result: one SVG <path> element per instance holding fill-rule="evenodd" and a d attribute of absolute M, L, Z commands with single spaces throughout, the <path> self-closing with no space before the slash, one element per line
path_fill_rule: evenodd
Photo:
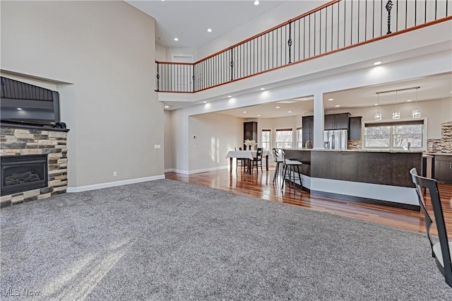
<path fill-rule="evenodd" d="M 2 300 L 452 300 L 425 235 L 169 179 L 0 216 Z"/>

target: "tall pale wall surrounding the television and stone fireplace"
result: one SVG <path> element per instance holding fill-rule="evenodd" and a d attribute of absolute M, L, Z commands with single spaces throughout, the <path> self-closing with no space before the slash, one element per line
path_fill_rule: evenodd
<path fill-rule="evenodd" d="M 60 92 L 69 187 L 163 175 L 154 32 L 123 1 L 1 1 L 1 70 Z"/>

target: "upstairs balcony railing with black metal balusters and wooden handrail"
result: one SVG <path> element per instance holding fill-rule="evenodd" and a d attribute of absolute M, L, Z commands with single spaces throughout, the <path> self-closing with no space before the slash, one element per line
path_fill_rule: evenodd
<path fill-rule="evenodd" d="M 333 0 L 195 63 L 156 61 L 156 91 L 195 93 L 452 19 L 452 0 Z"/>

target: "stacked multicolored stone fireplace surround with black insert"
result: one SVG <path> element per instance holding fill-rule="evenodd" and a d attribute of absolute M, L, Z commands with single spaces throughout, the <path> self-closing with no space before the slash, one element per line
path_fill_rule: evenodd
<path fill-rule="evenodd" d="M 66 192 L 66 134 L 66 129 L 19 129 L 2 124 L 1 208 Z"/>

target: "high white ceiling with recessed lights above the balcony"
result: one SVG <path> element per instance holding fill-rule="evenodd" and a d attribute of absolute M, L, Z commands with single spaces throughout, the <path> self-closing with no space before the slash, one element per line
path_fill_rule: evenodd
<path fill-rule="evenodd" d="M 126 2 L 155 18 L 158 44 L 198 48 L 285 1 L 260 1 L 259 5 L 254 5 L 254 0 Z M 208 28 L 212 32 L 208 33 Z"/>

